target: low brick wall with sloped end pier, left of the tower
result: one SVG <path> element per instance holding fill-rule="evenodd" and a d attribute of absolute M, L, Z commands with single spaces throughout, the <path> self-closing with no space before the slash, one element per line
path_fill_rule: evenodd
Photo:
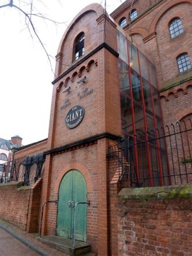
<path fill-rule="evenodd" d="M 0 216 L 28 232 L 38 232 L 41 180 L 31 187 L 22 182 L 0 184 Z"/>

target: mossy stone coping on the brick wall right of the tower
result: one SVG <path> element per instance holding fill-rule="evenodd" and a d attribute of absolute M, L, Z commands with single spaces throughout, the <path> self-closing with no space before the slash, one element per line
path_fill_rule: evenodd
<path fill-rule="evenodd" d="M 118 193 L 119 199 L 173 199 L 192 198 L 192 185 L 176 185 L 148 188 L 124 188 Z"/>

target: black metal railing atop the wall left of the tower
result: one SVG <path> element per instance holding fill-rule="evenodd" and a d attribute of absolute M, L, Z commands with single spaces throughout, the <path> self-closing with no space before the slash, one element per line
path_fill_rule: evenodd
<path fill-rule="evenodd" d="M 38 154 L 0 164 L 0 183 L 23 181 L 24 186 L 34 184 L 41 176 L 44 162 L 44 154 Z"/>

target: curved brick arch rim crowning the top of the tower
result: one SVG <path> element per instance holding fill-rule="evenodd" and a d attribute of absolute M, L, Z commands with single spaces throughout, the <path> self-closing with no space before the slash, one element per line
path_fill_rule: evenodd
<path fill-rule="evenodd" d="M 100 4 L 94 3 L 94 4 L 89 4 L 88 6 L 86 6 L 85 8 L 83 8 L 83 10 L 81 10 L 81 12 L 79 12 L 76 17 L 74 17 L 74 19 L 72 20 L 72 22 L 70 22 L 68 28 L 66 29 L 64 35 L 61 38 L 60 41 L 60 45 L 58 47 L 58 53 L 61 52 L 61 50 L 63 49 L 63 45 L 65 44 L 65 39 L 67 38 L 68 33 L 70 32 L 70 30 L 72 29 L 72 26 L 74 26 L 76 24 L 76 22 L 81 19 L 81 17 L 83 17 L 83 15 L 86 15 L 86 13 L 89 12 L 95 12 L 97 13 L 97 18 L 100 17 L 100 15 L 103 14 L 103 8 Z M 83 30 L 82 30 L 83 31 Z"/>

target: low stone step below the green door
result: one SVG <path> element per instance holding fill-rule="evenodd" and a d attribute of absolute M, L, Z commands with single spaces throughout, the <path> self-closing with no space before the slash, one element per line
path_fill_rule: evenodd
<path fill-rule="evenodd" d="M 56 250 L 72 256 L 86 255 L 86 253 L 90 252 L 91 250 L 90 244 L 76 241 L 75 247 L 73 247 L 72 239 L 67 239 L 61 236 L 42 236 L 38 237 L 38 241 L 41 241 L 42 243 L 47 244 Z"/>

